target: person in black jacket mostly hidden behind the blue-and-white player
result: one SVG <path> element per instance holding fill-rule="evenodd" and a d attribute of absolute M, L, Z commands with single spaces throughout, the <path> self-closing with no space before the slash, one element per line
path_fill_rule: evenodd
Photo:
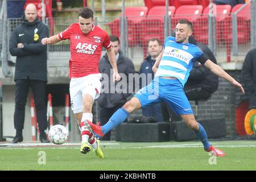
<path fill-rule="evenodd" d="M 209 57 L 209 60 L 217 64 L 216 57 L 208 46 L 197 42 L 193 36 L 190 36 L 188 41 L 189 43 L 199 47 L 205 53 L 205 56 Z M 185 95 L 187 96 L 188 100 L 207 100 L 217 89 L 218 76 L 212 73 L 207 67 L 200 64 L 198 60 L 194 60 L 193 68 L 188 77 L 188 81 L 184 85 Z M 181 120 L 181 118 L 177 116 L 167 104 L 166 107 L 168 109 L 168 117 L 170 117 L 171 121 Z"/>

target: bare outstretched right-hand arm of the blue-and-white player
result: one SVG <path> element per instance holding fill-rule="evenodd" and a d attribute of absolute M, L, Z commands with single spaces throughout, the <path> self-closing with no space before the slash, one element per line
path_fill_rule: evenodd
<path fill-rule="evenodd" d="M 245 94 L 245 90 L 243 90 L 242 85 L 237 82 L 232 76 L 230 76 L 228 73 L 226 73 L 224 71 L 224 69 L 222 69 L 219 65 L 214 64 L 211 60 L 207 60 L 205 62 L 205 67 L 209 68 L 211 72 L 213 72 L 214 74 L 216 74 L 217 76 L 220 76 L 230 82 L 232 82 L 233 85 L 237 86 L 238 88 L 240 88 L 241 92 L 243 94 Z"/>

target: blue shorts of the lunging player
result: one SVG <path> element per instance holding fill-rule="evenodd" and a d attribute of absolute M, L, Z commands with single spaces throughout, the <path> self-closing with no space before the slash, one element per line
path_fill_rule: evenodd
<path fill-rule="evenodd" d="M 176 114 L 193 114 L 183 86 L 177 79 L 155 77 L 150 84 L 139 90 L 134 97 L 139 99 L 142 107 L 165 101 Z"/>

